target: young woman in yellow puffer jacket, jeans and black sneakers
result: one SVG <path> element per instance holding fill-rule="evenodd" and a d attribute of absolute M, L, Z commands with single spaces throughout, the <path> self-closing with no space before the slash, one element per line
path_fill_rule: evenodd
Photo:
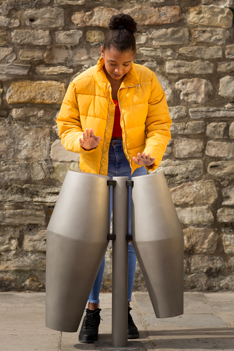
<path fill-rule="evenodd" d="M 80 153 L 84 172 L 111 179 L 146 174 L 159 166 L 171 138 L 171 119 L 158 79 L 150 69 L 133 63 L 135 32 L 136 22 L 131 16 L 112 16 L 98 64 L 71 82 L 63 100 L 57 119 L 59 136 L 68 151 Z M 130 303 L 136 266 L 131 243 L 128 256 Z M 98 340 L 104 265 L 105 258 L 89 296 L 79 334 L 82 343 Z M 128 306 L 128 338 L 138 338 Z"/>

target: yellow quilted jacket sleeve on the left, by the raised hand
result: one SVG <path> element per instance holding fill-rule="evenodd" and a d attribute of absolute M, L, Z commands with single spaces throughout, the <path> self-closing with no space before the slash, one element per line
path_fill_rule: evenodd
<path fill-rule="evenodd" d="M 84 154 L 93 152 L 98 147 L 85 150 L 80 145 L 79 139 L 83 138 L 83 130 L 75 96 L 75 83 L 73 81 L 68 86 L 56 122 L 59 129 L 59 137 L 66 150 Z"/>

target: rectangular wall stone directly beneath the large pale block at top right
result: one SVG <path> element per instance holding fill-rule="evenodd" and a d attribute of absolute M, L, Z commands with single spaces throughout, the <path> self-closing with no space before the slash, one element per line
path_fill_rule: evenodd
<path fill-rule="evenodd" d="M 215 45 L 225 44 L 230 37 L 229 31 L 221 28 L 201 28 L 191 31 L 195 42 L 208 42 Z"/>

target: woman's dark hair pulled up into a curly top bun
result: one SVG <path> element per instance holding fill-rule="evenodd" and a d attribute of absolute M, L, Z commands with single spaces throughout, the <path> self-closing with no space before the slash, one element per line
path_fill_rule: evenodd
<path fill-rule="evenodd" d="M 136 40 L 134 33 L 136 32 L 137 23 L 127 14 L 120 13 L 111 17 L 108 24 L 109 32 L 103 42 L 103 49 L 109 50 L 114 48 L 120 52 L 132 50 L 136 51 Z"/>

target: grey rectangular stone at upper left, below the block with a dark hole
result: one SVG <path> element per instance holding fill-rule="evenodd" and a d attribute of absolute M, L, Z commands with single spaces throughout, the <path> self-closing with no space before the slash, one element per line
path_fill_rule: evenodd
<path fill-rule="evenodd" d="M 51 37 L 48 30 L 35 30 L 30 29 L 15 29 L 11 33 L 12 42 L 14 44 L 31 44 L 31 45 L 49 45 Z"/>

